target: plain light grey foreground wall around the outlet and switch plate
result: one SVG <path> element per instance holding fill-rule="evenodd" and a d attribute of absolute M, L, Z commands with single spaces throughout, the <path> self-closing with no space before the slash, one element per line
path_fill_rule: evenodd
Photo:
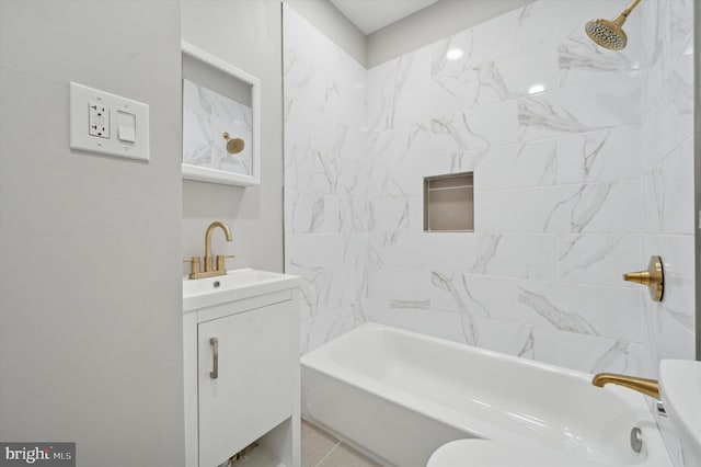
<path fill-rule="evenodd" d="M 184 464 L 180 61 L 176 2 L 0 2 L 0 440 Z M 69 80 L 150 105 L 150 163 L 69 149 Z"/>

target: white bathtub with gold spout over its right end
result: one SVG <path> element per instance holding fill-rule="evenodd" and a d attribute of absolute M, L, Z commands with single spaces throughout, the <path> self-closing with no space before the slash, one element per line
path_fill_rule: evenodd
<path fill-rule="evenodd" d="M 553 466 L 670 465 L 644 397 L 585 373 L 375 323 L 308 353 L 301 372 L 307 418 L 386 465 L 424 467 L 469 437 Z"/>

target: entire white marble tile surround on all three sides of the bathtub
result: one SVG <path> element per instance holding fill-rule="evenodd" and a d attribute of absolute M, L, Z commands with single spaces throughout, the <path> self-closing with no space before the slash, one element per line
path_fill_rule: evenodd
<path fill-rule="evenodd" d="M 286 262 L 306 280 L 302 351 L 367 317 L 587 372 L 654 374 L 651 339 L 655 355 L 690 356 L 692 196 L 675 196 L 691 186 L 691 128 L 673 137 L 679 125 L 651 109 L 691 106 L 691 80 L 673 86 L 677 60 L 648 49 L 641 21 L 664 47 L 690 26 L 671 13 L 660 26 L 647 7 L 623 52 L 586 38 L 586 21 L 625 7 L 537 1 L 367 75 L 286 9 Z M 452 48 L 463 56 L 447 60 Z M 475 231 L 424 232 L 423 178 L 462 171 Z M 657 315 L 621 280 L 653 253 L 671 272 Z"/>

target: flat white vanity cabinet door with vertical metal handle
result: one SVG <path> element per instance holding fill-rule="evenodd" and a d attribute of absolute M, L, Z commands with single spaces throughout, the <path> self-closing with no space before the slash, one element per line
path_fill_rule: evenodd
<path fill-rule="evenodd" d="M 295 317 L 284 301 L 198 324 L 200 467 L 223 463 L 290 417 Z"/>

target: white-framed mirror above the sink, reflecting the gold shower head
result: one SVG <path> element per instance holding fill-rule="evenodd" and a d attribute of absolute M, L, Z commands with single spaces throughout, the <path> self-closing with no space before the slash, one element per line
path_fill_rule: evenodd
<path fill-rule="evenodd" d="M 261 81 L 187 42 L 183 53 L 183 179 L 261 183 Z"/>

